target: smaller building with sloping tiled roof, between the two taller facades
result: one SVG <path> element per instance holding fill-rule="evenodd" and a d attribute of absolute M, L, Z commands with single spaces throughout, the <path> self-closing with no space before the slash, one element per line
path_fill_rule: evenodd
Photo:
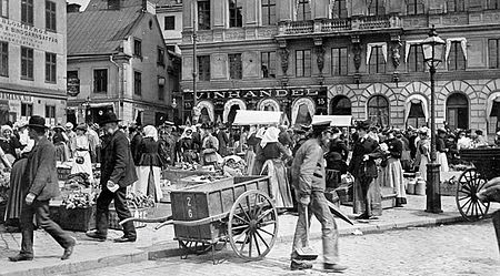
<path fill-rule="evenodd" d="M 171 71 L 154 4 L 92 0 L 68 13 L 69 121 L 99 122 L 109 111 L 123 124 L 173 120 Z"/>

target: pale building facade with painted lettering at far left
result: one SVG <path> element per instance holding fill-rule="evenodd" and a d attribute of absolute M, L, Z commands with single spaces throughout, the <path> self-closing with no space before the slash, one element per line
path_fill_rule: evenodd
<path fill-rule="evenodd" d="M 66 1 L 0 1 L 0 124 L 66 114 Z"/>

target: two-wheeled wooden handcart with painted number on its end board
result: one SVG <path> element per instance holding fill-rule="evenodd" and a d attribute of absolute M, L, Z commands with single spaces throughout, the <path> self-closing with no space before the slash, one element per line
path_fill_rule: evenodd
<path fill-rule="evenodd" d="M 278 212 L 268 176 L 231 177 L 171 192 L 172 217 L 127 221 L 173 225 L 188 254 L 214 252 L 228 242 L 249 260 L 263 258 L 278 235 Z M 121 222 L 123 224 L 126 221 Z"/>

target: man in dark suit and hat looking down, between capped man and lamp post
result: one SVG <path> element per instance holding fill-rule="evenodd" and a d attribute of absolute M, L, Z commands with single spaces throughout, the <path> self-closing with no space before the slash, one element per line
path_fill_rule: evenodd
<path fill-rule="evenodd" d="M 352 159 L 349 163 L 349 172 L 354 176 L 354 213 L 363 211 L 358 218 L 372 218 L 370 198 L 368 191 L 372 185 L 373 178 L 377 177 L 377 165 L 374 161 L 382 157 L 383 153 L 379 147 L 379 143 L 368 135 L 370 121 L 359 122 L 357 125 L 358 140 L 354 142 L 352 150 Z M 364 203 L 364 209 L 357 209 L 357 201 Z"/>

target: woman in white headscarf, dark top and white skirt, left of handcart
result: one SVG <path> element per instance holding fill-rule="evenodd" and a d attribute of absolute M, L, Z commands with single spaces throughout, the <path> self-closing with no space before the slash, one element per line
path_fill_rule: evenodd
<path fill-rule="evenodd" d="M 163 197 L 160 186 L 160 174 L 163 162 L 159 153 L 158 131 L 152 125 L 144 127 L 144 137 L 139 144 L 139 180 L 132 191 L 137 194 L 150 195 L 157 202 Z"/>

